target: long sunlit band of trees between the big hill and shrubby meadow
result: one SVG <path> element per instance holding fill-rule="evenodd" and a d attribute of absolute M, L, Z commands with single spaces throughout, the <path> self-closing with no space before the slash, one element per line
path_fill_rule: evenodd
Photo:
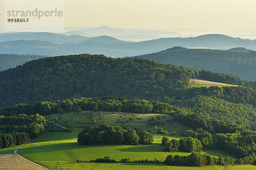
<path fill-rule="evenodd" d="M 100 98 L 67 99 L 63 101 L 38 102 L 35 104 L 18 104 L 0 108 L 0 114 L 10 116 L 26 113 L 49 115 L 70 111 L 122 111 L 130 113 L 166 113 L 174 115 L 179 109 L 166 102 L 144 99 L 127 99 L 125 97 L 102 96 Z"/>

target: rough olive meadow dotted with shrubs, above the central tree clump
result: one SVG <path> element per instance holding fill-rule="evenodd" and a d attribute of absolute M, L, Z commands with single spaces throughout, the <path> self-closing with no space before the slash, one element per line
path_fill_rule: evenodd
<path fill-rule="evenodd" d="M 92 114 L 96 116 L 96 122 L 94 123 L 92 123 L 90 119 L 90 116 Z M 166 114 L 133 114 L 124 112 L 102 112 L 102 119 L 99 119 L 97 115 L 99 115 L 99 112 L 82 111 L 80 113 L 72 112 L 65 114 L 52 114 L 45 116 L 45 118 L 49 121 L 54 120 L 55 123 L 62 125 L 64 127 L 68 127 L 70 124 L 71 130 L 73 130 L 76 133 L 79 133 L 82 127 L 86 125 L 95 126 L 101 125 L 103 123 L 112 126 L 120 125 L 127 129 L 137 128 L 139 130 L 145 129 L 148 131 L 153 131 L 154 126 L 149 124 L 148 119 L 154 119 L 156 121 L 162 122 L 162 124 L 157 125 L 157 127 L 162 127 L 164 130 L 168 130 L 169 132 L 175 131 L 177 134 L 181 134 L 183 130 L 191 130 L 191 128 L 185 127 L 183 125 L 179 125 L 177 123 L 174 124 L 172 122 L 173 117 Z"/>

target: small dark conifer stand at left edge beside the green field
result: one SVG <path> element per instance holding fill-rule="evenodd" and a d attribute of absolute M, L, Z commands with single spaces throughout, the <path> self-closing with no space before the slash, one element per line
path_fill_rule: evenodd
<path fill-rule="evenodd" d="M 0 149 L 28 143 L 28 133 L 0 133 Z"/>

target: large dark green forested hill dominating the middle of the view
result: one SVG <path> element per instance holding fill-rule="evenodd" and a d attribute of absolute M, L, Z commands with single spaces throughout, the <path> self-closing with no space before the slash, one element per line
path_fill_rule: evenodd
<path fill-rule="evenodd" d="M 195 69 L 103 55 L 48 57 L 0 73 L 0 107 L 72 96 L 154 99 L 185 87 Z"/>

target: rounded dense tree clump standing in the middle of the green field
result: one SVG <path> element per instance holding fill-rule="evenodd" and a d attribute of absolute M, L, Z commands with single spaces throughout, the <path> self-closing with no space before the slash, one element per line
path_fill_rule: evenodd
<path fill-rule="evenodd" d="M 146 130 L 135 131 L 124 130 L 121 126 L 110 126 L 107 124 L 89 126 L 79 134 L 77 142 L 81 145 L 87 144 L 150 144 L 153 135 Z"/>

